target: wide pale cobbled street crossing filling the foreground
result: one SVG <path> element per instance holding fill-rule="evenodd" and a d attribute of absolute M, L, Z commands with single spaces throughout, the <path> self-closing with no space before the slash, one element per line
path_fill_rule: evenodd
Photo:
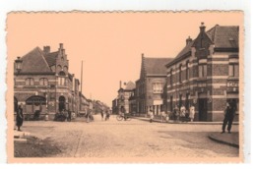
<path fill-rule="evenodd" d="M 57 145 L 58 157 L 237 157 L 238 148 L 208 139 L 220 125 L 149 123 L 140 119 L 86 123 L 25 122 L 23 130 Z M 233 126 L 237 131 L 238 126 Z"/>

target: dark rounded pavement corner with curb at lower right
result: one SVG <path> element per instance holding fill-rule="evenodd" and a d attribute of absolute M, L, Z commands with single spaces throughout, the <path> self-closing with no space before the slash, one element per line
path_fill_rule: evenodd
<path fill-rule="evenodd" d="M 232 132 L 230 134 L 228 133 L 210 133 L 208 138 L 212 141 L 217 141 L 219 143 L 224 143 L 230 146 L 234 146 L 239 148 L 239 133 L 238 132 Z"/>

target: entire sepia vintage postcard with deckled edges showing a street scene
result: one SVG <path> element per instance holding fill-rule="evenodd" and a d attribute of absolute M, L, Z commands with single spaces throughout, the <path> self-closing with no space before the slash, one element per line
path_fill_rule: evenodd
<path fill-rule="evenodd" d="M 11 12 L 9 163 L 240 163 L 242 11 Z"/>

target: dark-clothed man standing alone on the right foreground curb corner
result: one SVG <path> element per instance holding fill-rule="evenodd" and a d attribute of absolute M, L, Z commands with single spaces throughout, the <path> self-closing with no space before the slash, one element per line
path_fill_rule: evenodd
<path fill-rule="evenodd" d="M 222 134 L 225 133 L 225 127 L 226 127 L 227 124 L 228 124 L 227 125 L 228 134 L 231 133 L 231 127 L 232 127 L 232 122 L 233 122 L 233 118 L 234 118 L 234 113 L 235 113 L 234 105 L 227 102 L 226 103 L 226 108 L 224 110 L 224 124 L 223 124 Z"/>

